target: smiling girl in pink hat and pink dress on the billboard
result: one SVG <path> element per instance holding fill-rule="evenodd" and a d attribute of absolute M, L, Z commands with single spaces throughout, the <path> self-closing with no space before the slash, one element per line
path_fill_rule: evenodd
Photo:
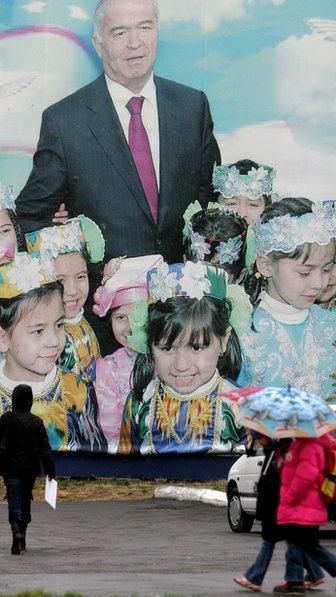
<path fill-rule="evenodd" d="M 142 326 L 147 320 L 147 272 L 162 262 L 161 255 L 111 259 L 94 294 L 94 313 L 109 316 L 114 339 L 121 346 L 113 354 L 96 359 L 93 375 L 99 419 L 112 453 L 118 448 L 135 359 L 139 352 L 146 352 Z"/>

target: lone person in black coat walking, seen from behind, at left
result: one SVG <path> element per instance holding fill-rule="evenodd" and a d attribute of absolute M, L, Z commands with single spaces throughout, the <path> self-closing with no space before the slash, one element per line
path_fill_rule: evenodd
<path fill-rule="evenodd" d="M 31 522 L 30 502 L 40 460 L 50 479 L 55 477 L 51 448 L 40 417 L 30 410 L 33 392 L 18 385 L 12 393 L 12 411 L 0 417 L 0 471 L 7 489 L 8 519 L 12 527 L 12 554 L 26 549 L 26 529 Z"/>

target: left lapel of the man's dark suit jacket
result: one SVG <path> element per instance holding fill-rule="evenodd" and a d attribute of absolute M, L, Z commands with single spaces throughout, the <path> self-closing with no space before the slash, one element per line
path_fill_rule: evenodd
<path fill-rule="evenodd" d="M 135 200 L 153 222 L 128 143 L 125 139 L 116 109 L 107 89 L 105 76 L 92 85 L 87 99 L 88 126 L 96 137 Z"/>

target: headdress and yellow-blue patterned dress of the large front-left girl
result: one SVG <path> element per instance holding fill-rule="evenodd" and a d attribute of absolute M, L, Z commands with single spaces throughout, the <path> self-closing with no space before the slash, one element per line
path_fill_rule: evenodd
<path fill-rule="evenodd" d="M 0 301 L 56 282 L 53 264 L 28 253 L 0 267 Z M 5 374 L 6 358 L 0 362 L 0 414 L 11 408 L 11 396 L 18 383 L 33 390 L 32 413 L 40 416 L 54 450 L 106 450 L 98 421 L 97 399 L 88 375 L 63 373 L 54 365 L 42 382 L 12 380 Z"/>

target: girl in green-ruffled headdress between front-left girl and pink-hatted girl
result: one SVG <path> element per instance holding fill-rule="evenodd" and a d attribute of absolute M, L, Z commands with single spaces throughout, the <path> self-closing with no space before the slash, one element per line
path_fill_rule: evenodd
<path fill-rule="evenodd" d="M 89 294 L 88 261 L 104 258 L 105 241 L 100 228 L 86 216 L 26 234 L 29 253 L 53 259 L 57 279 L 64 287 L 67 342 L 60 365 L 64 372 L 81 375 L 100 356 L 96 335 L 84 317 Z"/>

